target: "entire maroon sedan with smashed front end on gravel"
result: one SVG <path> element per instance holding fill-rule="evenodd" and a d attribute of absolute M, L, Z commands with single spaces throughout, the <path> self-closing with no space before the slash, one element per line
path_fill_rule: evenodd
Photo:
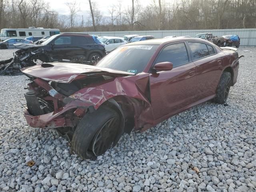
<path fill-rule="evenodd" d="M 22 69 L 31 80 L 26 120 L 57 130 L 81 158 L 94 159 L 125 132 L 145 131 L 209 100 L 224 104 L 240 58 L 229 49 L 193 38 L 155 39 L 118 47 L 95 66 Z"/>

